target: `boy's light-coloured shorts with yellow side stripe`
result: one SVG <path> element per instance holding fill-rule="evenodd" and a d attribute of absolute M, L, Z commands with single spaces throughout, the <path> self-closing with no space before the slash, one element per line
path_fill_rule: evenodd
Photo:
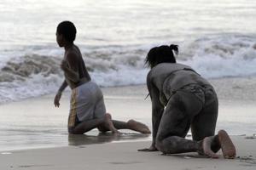
<path fill-rule="evenodd" d="M 102 118 L 106 114 L 102 90 L 95 82 L 86 82 L 72 90 L 68 127 Z"/>

